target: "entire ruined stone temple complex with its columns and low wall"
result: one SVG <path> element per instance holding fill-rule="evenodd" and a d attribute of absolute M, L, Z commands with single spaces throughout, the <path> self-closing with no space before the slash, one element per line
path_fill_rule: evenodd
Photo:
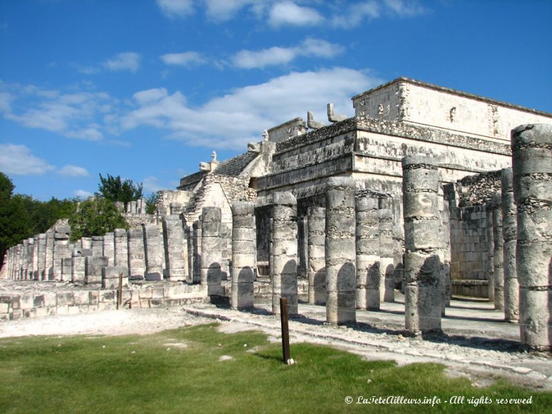
<path fill-rule="evenodd" d="M 70 244 L 59 223 L 13 246 L 3 277 L 76 287 L 1 297 L 0 319 L 114 306 L 122 275 L 127 306 L 265 297 L 278 314 L 286 297 L 333 324 L 400 291 L 412 334 L 440 331 L 451 295 L 487 298 L 522 344 L 551 348 L 552 114 L 407 78 L 352 101 L 354 117 L 328 103 L 327 121 L 213 152 L 156 215 L 127 206 L 128 231 Z"/>

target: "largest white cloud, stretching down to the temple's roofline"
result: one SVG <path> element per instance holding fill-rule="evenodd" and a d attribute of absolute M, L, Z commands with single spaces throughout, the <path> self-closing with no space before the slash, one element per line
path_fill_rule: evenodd
<path fill-rule="evenodd" d="M 135 94 L 135 108 L 122 117 L 121 126 L 154 126 L 188 145 L 244 150 L 248 141 L 262 139 L 263 130 L 295 117 L 306 119 L 307 110 L 323 121 L 328 102 L 335 103 L 337 112 L 352 116 L 351 96 L 380 82 L 348 68 L 291 72 L 237 88 L 199 108 L 189 106 L 179 91 L 171 95 L 162 88 L 147 90 Z M 144 93 L 151 99 L 140 99 Z"/>

